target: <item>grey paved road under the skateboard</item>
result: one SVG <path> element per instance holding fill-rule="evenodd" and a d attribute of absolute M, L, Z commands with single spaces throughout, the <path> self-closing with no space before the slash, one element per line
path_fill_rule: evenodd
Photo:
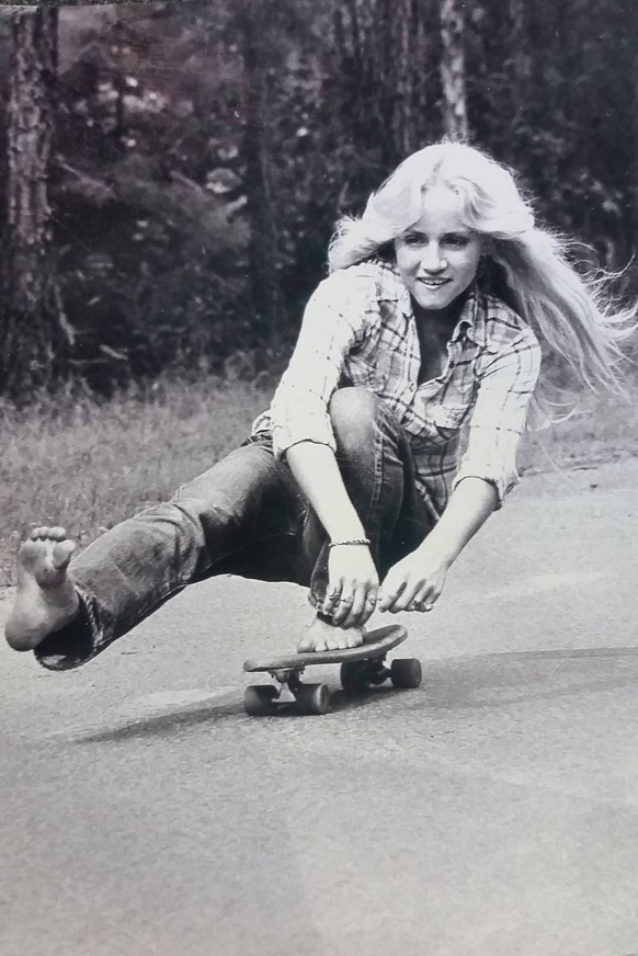
<path fill-rule="evenodd" d="M 3 647 L 0 954 L 637 954 L 637 489 L 527 479 L 403 617 L 423 686 L 323 718 L 242 713 L 288 585 L 198 585 L 61 675 Z"/>

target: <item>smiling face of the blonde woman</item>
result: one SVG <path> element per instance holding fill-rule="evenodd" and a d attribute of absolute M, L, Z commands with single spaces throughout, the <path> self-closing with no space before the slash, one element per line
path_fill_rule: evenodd
<path fill-rule="evenodd" d="M 463 223 L 460 201 L 445 186 L 428 190 L 422 208 L 419 221 L 395 239 L 397 269 L 421 308 L 445 309 L 474 281 L 481 237 Z"/>

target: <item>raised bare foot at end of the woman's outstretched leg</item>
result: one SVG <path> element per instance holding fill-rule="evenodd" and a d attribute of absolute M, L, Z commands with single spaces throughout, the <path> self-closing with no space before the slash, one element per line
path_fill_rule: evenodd
<path fill-rule="evenodd" d="M 33 650 L 78 613 L 67 573 L 73 548 L 62 527 L 36 527 L 20 548 L 18 594 L 4 628 L 14 650 Z"/>

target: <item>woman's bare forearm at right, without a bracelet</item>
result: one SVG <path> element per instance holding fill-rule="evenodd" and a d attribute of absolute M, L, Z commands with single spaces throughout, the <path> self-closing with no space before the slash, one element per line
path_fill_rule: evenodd
<path fill-rule="evenodd" d="M 434 551 L 449 568 L 498 505 L 493 485 L 468 477 L 457 485 L 447 508 L 418 550 Z"/>

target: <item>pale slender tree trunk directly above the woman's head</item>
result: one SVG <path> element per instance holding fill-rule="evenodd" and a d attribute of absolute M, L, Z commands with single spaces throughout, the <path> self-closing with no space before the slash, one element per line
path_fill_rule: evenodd
<path fill-rule="evenodd" d="M 468 135 L 465 94 L 465 3 L 441 0 L 443 129 L 452 139 Z"/>

